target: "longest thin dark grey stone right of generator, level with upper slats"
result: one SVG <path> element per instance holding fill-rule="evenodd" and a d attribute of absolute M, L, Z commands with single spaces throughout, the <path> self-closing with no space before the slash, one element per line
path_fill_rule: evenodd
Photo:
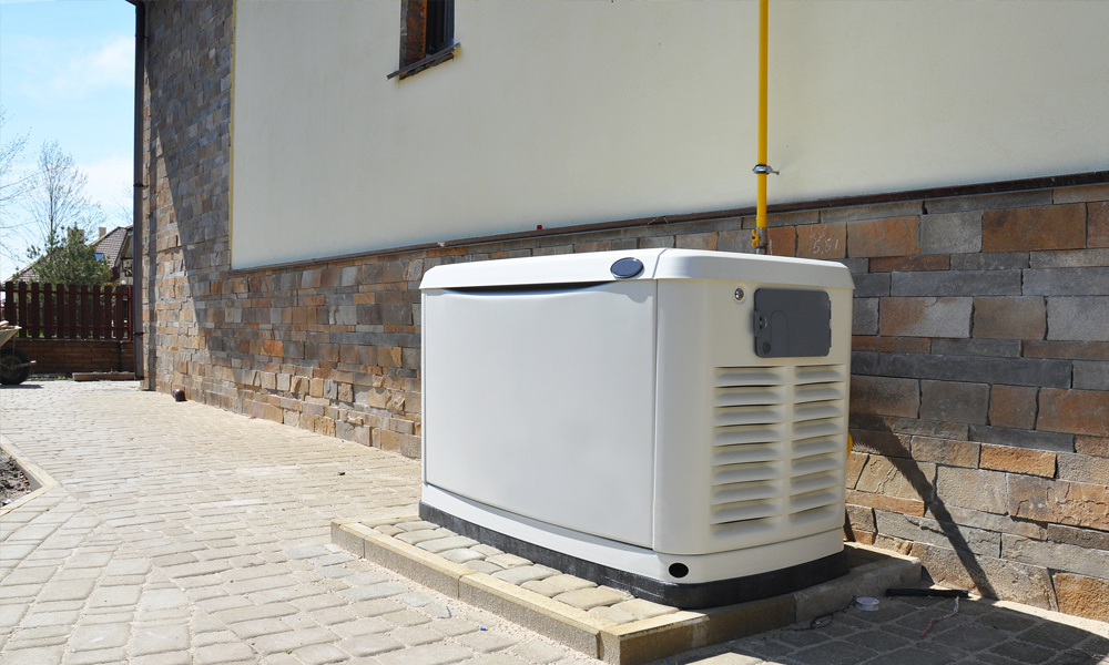
<path fill-rule="evenodd" d="M 854 351 L 851 355 L 851 371 L 856 375 L 939 381 L 988 381 L 1008 386 L 1070 388 L 1071 361 Z"/>

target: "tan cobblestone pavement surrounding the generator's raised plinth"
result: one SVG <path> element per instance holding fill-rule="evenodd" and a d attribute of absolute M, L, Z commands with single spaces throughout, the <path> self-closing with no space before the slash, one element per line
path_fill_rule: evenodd
<path fill-rule="evenodd" d="M 0 664 L 598 663 L 352 559 L 335 518 L 413 514 L 419 464 L 134 383 L 0 389 L 0 433 L 59 485 L 0 520 Z M 669 658 L 1109 663 L 1109 624 L 883 598 Z M 922 625 L 923 624 L 923 625 Z"/>

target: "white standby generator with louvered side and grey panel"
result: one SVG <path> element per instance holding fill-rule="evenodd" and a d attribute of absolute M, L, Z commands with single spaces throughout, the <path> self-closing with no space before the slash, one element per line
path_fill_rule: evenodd
<path fill-rule="evenodd" d="M 427 519 L 618 586 L 843 550 L 843 265 L 641 249 L 438 266 L 420 288 Z"/>

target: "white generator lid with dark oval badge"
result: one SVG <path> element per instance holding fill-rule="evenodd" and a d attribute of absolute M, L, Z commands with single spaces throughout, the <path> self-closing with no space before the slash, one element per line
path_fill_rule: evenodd
<path fill-rule="evenodd" d="M 725 279 L 854 288 L 847 267 L 826 260 L 698 249 L 628 249 L 436 266 L 420 289 L 600 284 L 627 279 Z"/>

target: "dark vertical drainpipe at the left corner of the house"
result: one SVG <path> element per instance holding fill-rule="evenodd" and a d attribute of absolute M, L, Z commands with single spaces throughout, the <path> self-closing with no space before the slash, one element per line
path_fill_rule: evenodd
<path fill-rule="evenodd" d="M 142 330 L 142 259 L 143 259 L 143 219 L 142 192 L 142 103 L 143 81 L 146 63 L 146 2 L 134 0 L 135 6 L 135 136 L 134 136 L 134 193 L 131 213 L 131 341 L 134 344 L 135 378 L 145 378 L 143 371 L 143 330 Z"/>

